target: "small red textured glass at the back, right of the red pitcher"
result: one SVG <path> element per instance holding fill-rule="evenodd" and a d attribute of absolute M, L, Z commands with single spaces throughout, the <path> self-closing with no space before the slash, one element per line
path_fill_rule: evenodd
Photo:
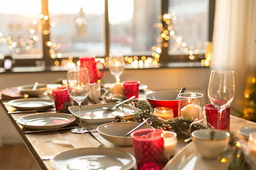
<path fill-rule="evenodd" d="M 124 94 L 127 98 L 139 98 L 139 81 L 124 81 Z"/>

